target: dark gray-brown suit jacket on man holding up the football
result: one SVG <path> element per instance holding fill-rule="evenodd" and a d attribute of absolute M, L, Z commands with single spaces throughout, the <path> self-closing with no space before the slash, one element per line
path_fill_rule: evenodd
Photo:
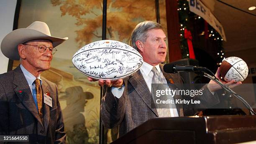
<path fill-rule="evenodd" d="M 160 68 L 164 73 L 167 83 L 171 83 L 170 81 L 182 83 L 178 73 L 165 73 L 161 64 Z M 152 109 L 151 107 L 151 93 L 141 71 L 138 70 L 123 80 L 125 89 L 120 99 L 113 96 L 111 88 L 107 88 L 100 107 L 103 125 L 110 129 L 119 125 L 119 136 L 126 134 L 148 119 L 158 117 L 156 109 Z M 218 97 L 212 96 L 207 88 L 204 89 L 206 95 L 211 95 L 206 101 L 210 101 L 210 105 L 217 104 Z M 177 106 L 179 116 L 194 114 L 192 108 L 180 109 L 181 107 Z"/>

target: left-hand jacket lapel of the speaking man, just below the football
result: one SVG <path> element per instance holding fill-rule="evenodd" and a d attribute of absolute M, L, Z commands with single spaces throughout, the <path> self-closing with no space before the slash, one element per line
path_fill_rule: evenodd
<path fill-rule="evenodd" d="M 141 96 L 141 99 L 146 103 L 146 105 L 154 112 L 154 114 L 156 114 L 156 116 L 158 116 L 156 109 L 151 108 L 151 93 L 141 74 L 141 71 L 138 70 L 133 73 L 128 81 L 130 81 L 131 85 L 137 91 L 139 96 Z"/>

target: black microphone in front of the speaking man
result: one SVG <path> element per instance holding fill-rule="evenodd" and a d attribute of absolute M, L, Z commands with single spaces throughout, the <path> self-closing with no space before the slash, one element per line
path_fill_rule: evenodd
<path fill-rule="evenodd" d="M 185 72 L 199 72 L 204 71 L 205 67 L 197 67 L 197 66 L 179 66 L 173 63 L 168 63 L 164 65 L 164 72 L 166 73 L 177 73 L 179 71 Z"/>

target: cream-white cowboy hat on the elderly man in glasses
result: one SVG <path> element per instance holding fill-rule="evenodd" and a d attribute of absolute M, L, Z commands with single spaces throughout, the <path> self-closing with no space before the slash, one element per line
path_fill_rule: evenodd
<path fill-rule="evenodd" d="M 18 45 L 23 44 L 29 40 L 36 39 L 46 39 L 51 40 L 53 47 L 63 43 L 66 38 L 56 38 L 52 37 L 49 27 L 46 23 L 35 21 L 27 28 L 19 28 L 17 30 L 13 30 L 8 33 L 8 35 L 3 38 L 1 43 L 1 51 L 2 53 L 12 60 L 19 60 L 20 55 L 18 53 Z"/>

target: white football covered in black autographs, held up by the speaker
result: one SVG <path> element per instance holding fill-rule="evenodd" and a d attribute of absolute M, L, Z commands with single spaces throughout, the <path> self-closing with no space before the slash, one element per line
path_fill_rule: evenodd
<path fill-rule="evenodd" d="M 115 40 L 99 40 L 79 49 L 72 62 L 86 76 L 116 80 L 137 71 L 143 58 L 130 45 Z"/>

